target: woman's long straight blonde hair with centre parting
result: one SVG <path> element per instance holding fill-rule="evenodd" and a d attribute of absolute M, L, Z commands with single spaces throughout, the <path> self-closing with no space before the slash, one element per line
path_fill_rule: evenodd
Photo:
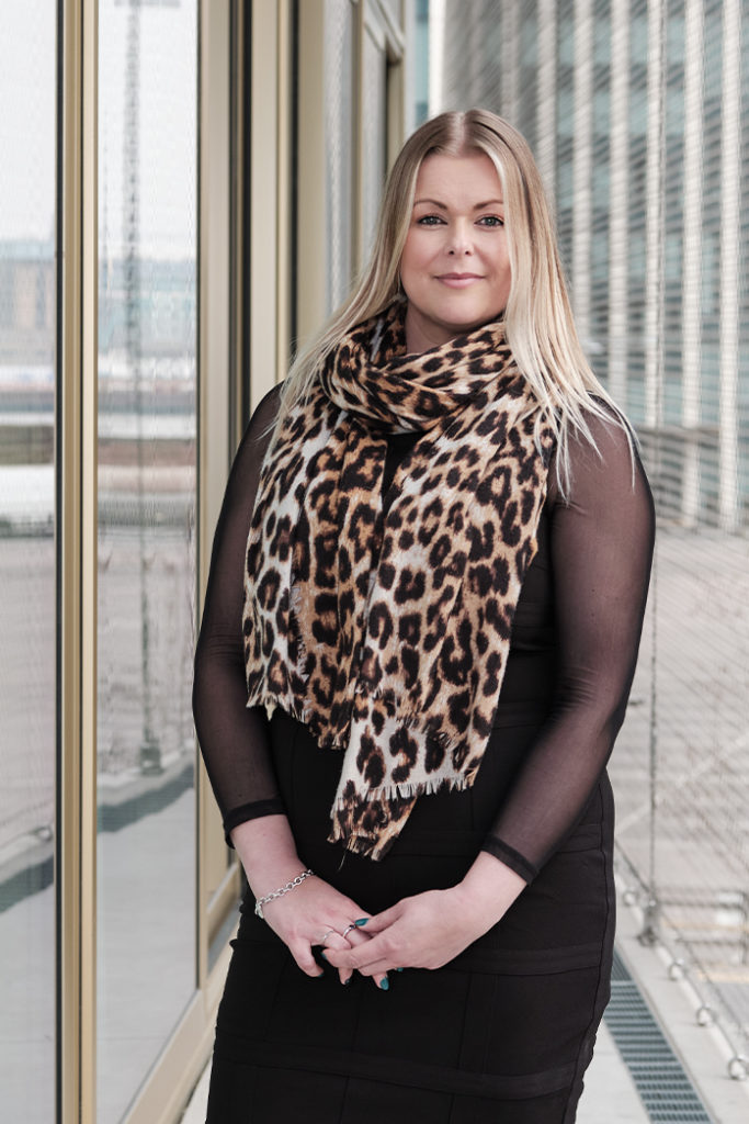
<path fill-rule="evenodd" d="M 440 114 L 403 145 L 387 178 L 368 264 L 348 299 L 321 334 L 295 359 L 282 392 L 277 423 L 309 392 L 314 372 L 351 328 L 382 312 L 399 296 L 400 261 L 411 223 L 417 176 L 432 154 L 485 153 L 494 164 L 504 201 L 511 287 L 504 310 L 508 344 L 541 406 L 557 443 L 557 479 L 569 487 L 569 435 L 596 448 L 586 416 L 631 430 L 593 373 L 577 336 L 548 202 L 526 139 L 485 109 Z M 277 430 L 276 430 L 277 432 Z"/>

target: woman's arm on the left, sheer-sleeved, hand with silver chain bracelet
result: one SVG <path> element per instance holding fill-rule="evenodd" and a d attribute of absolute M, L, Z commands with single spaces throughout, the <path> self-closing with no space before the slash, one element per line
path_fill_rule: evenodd
<path fill-rule="evenodd" d="M 307 865 L 296 853 L 278 792 L 265 711 L 246 705 L 241 638 L 247 535 L 277 395 L 277 389 L 272 390 L 258 406 L 231 469 L 213 540 L 193 686 L 195 728 L 205 768 L 227 837 L 256 898 L 285 886 Z M 327 882 L 308 878 L 268 903 L 264 915 L 302 971 L 319 976 L 312 945 L 332 931 L 326 944 L 348 949 L 348 940 L 338 934 L 363 910 Z M 350 975 L 344 971 L 341 979 Z M 382 978 L 375 975 L 375 982 Z"/>

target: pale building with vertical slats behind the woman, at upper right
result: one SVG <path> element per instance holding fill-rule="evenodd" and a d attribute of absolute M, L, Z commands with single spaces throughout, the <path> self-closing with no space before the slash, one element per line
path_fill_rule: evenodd
<path fill-rule="evenodd" d="M 749 523 L 748 9 L 432 4 L 432 111 L 484 106 L 526 135 L 581 335 L 640 430 L 661 516 L 727 529 Z"/>

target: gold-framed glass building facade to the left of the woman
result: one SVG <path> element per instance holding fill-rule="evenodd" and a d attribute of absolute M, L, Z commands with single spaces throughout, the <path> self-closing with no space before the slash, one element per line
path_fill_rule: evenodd
<path fill-rule="evenodd" d="M 171 1124 L 239 892 L 191 718 L 253 406 L 366 253 L 408 0 L 8 0 L 0 1104 Z"/>

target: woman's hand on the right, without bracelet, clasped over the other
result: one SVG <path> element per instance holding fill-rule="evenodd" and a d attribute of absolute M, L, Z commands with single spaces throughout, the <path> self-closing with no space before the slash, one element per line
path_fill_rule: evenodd
<path fill-rule="evenodd" d="M 495 925 L 524 886 L 519 874 L 482 852 L 457 886 L 403 898 L 359 930 L 368 942 L 331 950 L 328 961 L 376 978 L 393 969 L 441 968 Z"/>

